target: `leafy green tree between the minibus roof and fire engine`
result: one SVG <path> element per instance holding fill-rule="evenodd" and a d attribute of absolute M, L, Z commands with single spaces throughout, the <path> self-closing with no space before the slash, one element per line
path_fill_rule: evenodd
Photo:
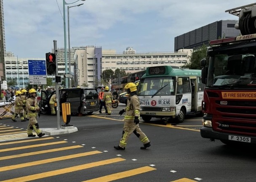
<path fill-rule="evenodd" d="M 208 60 L 206 52 L 207 47 L 205 46 L 205 44 L 203 44 L 202 47 L 199 47 L 192 52 L 192 54 L 189 56 L 189 61 L 181 66 L 181 68 L 201 70 L 200 60 L 202 60 L 203 58 L 206 58 Z"/>

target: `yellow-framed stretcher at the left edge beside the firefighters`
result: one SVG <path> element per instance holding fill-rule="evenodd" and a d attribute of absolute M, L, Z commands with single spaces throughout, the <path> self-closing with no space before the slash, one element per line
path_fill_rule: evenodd
<path fill-rule="evenodd" d="M 11 118 L 14 114 L 15 97 L 0 102 L 0 119 Z"/>

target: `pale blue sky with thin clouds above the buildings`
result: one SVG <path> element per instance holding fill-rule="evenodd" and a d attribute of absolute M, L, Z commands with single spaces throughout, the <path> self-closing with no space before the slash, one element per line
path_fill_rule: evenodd
<path fill-rule="evenodd" d="M 173 52 L 174 38 L 220 20 L 238 20 L 225 10 L 253 0 L 3 0 L 5 45 L 18 57 L 43 58 L 53 40 L 64 48 L 64 12 L 68 49 L 101 46 L 122 53 Z"/>

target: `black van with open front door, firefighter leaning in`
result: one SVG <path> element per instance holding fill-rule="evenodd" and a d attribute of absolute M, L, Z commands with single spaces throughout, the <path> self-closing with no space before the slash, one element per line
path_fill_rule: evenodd
<path fill-rule="evenodd" d="M 51 113 L 49 101 L 51 96 L 55 94 L 53 91 L 48 96 L 42 91 L 39 106 L 43 108 L 43 114 Z M 97 88 L 81 87 L 81 88 L 62 88 L 59 89 L 60 112 L 61 104 L 70 103 L 72 114 L 92 114 L 99 111 L 99 98 Z"/>

